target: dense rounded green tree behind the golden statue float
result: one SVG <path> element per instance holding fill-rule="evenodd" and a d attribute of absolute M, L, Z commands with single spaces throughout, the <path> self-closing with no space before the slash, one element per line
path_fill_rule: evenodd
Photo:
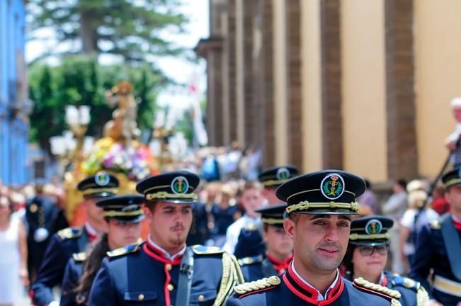
<path fill-rule="evenodd" d="M 103 126 L 112 115 L 105 92 L 122 80 L 133 84 L 138 105 L 138 125 L 151 129 L 155 101 L 166 80 L 149 64 L 132 67 L 127 64 L 103 66 L 96 58 L 66 57 L 57 67 L 37 62 L 29 68 L 29 96 L 34 101 L 30 115 L 30 140 L 49 149 L 48 140 L 67 129 L 65 106 L 91 107 L 87 135 L 101 137 Z"/>

